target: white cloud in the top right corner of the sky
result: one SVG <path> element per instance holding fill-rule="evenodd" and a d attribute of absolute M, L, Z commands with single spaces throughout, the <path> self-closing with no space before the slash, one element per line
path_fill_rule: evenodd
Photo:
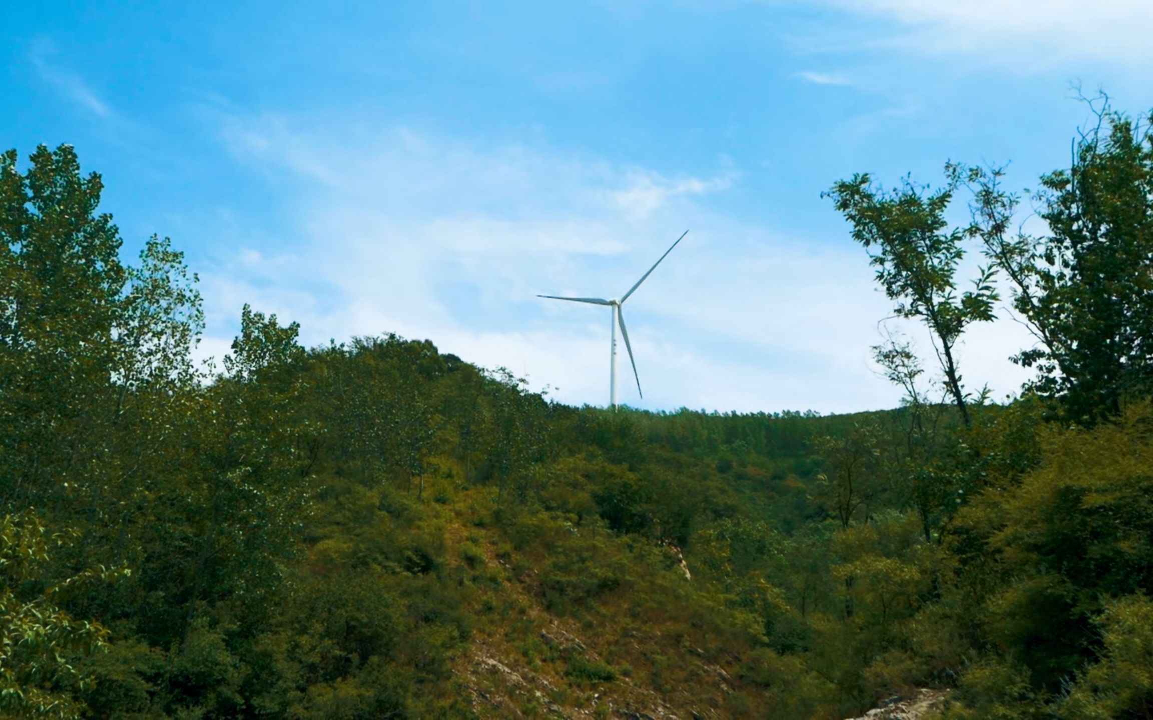
<path fill-rule="evenodd" d="M 896 21 L 894 41 L 928 52 L 979 53 L 1032 66 L 1064 60 L 1132 62 L 1153 58 L 1148 0 L 830 0 Z"/>

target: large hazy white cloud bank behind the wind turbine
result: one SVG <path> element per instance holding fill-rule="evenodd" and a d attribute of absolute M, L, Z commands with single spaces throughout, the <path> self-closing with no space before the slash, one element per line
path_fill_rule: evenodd
<path fill-rule="evenodd" d="M 709 210 L 736 175 L 665 177 L 525 147 L 476 151 L 407 130 L 311 132 L 233 120 L 229 146 L 286 188 L 299 236 L 241 247 L 202 272 L 209 348 L 240 305 L 301 323 L 306 342 L 397 332 L 527 373 L 570 403 L 608 395 L 603 308 L 685 227 L 625 314 L 646 396 L 620 346 L 621 402 L 650 408 L 845 411 L 891 407 L 871 365 L 889 303 L 850 243 L 782 237 Z M 974 341 L 966 377 L 1005 382 L 1019 344 Z M 928 347 L 927 344 L 925 346 Z M 981 364 L 984 363 L 984 364 Z"/>

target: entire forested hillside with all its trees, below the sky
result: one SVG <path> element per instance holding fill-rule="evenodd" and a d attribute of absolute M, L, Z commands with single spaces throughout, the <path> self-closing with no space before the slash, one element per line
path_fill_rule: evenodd
<path fill-rule="evenodd" d="M 71 147 L 3 154 L 0 714 L 1153 718 L 1153 146 L 1100 119 L 1043 237 L 996 168 L 832 188 L 940 361 L 891 339 L 902 407 L 832 417 L 572 408 L 247 305 L 198 367 L 181 252 L 126 263 Z M 959 351 L 998 279 L 1005 406 Z"/>

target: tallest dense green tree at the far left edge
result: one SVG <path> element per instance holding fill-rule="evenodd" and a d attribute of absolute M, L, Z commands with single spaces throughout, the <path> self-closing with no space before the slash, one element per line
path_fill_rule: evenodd
<path fill-rule="evenodd" d="M 126 271 L 69 145 L 0 154 L 0 495 L 46 498 L 101 454 Z M 61 385 L 67 384 L 67 392 Z"/>

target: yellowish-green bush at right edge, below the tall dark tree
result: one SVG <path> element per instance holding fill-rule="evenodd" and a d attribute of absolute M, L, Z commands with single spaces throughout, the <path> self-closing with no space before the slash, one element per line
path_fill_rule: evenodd
<path fill-rule="evenodd" d="M 1093 657 L 1106 598 L 1153 583 L 1151 440 L 1147 407 L 1093 432 L 1049 430 L 1037 470 L 962 515 L 1004 578 L 987 600 L 988 636 L 1039 687 L 1057 690 Z"/>

